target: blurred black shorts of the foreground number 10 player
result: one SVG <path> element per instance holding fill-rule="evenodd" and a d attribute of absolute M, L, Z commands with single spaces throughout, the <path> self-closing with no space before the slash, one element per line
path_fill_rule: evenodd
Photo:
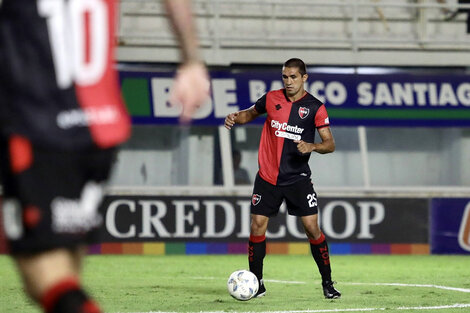
<path fill-rule="evenodd" d="M 103 219 L 98 208 L 115 149 L 71 151 L 26 144 L 21 157 L 5 141 L 1 147 L 2 213 L 11 254 L 73 248 L 97 240 Z"/>

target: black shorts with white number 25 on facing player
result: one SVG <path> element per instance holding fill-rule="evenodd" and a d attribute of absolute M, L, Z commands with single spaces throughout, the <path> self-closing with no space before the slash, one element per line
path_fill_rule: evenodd
<path fill-rule="evenodd" d="M 309 178 L 301 179 L 288 186 L 274 186 L 256 175 L 251 213 L 274 216 L 279 212 L 282 201 L 286 200 L 287 212 L 295 216 L 318 213 L 317 194 Z"/>

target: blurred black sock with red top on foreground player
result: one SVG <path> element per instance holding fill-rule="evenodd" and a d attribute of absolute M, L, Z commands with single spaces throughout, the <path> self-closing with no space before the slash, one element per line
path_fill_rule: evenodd
<path fill-rule="evenodd" d="M 50 288 L 42 297 L 41 304 L 46 313 L 101 312 L 74 278 L 66 279 Z"/>

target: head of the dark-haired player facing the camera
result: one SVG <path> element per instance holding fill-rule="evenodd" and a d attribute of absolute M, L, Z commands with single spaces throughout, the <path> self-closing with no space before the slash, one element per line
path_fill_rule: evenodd
<path fill-rule="evenodd" d="M 282 81 L 287 96 L 293 97 L 304 92 L 304 83 L 307 81 L 307 68 L 304 61 L 297 58 L 287 60 L 282 67 Z"/>

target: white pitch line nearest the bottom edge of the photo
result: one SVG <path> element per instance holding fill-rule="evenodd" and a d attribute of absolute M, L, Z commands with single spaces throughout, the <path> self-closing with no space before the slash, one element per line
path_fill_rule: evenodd
<path fill-rule="evenodd" d="M 411 306 L 411 307 L 398 307 L 398 308 L 357 308 L 357 309 L 325 309 L 325 310 L 294 310 L 294 311 L 246 311 L 246 312 L 233 312 L 233 313 L 340 313 L 340 312 L 372 312 L 372 311 L 392 311 L 392 310 L 446 310 L 446 309 L 465 309 L 470 308 L 470 303 L 455 303 L 451 305 L 439 306 Z M 136 313 L 179 313 L 179 312 L 164 312 L 164 311 L 151 311 L 151 312 L 136 312 Z M 194 313 L 227 313 L 226 311 L 200 311 Z"/>

